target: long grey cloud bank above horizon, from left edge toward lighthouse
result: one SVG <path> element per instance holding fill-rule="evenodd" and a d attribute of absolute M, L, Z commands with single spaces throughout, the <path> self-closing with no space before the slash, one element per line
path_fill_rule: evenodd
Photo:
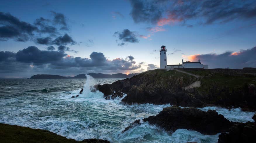
<path fill-rule="evenodd" d="M 127 60 L 121 58 L 108 60 L 103 53 L 92 52 L 89 58 L 81 58 L 66 54 L 65 51 L 71 50 L 63 45 L 58 47 L 58 51 L 54 49 L 50 46 L 48 51 L 44 51 L 30 46 L 17 53 L 0 51 L 0 73 L 1 75 L 16 75 L 21 72 L 25 75 L 81 74 L 85 71 L 113 73 L 141 68 L 141 64 L 136 65 L 133 56 L 127 56 Z"/>

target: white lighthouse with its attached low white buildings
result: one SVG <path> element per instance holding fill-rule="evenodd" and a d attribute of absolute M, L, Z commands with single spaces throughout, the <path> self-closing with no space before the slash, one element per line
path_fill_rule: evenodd
<path fill-rule="evenodd" d="M 173 68 L 201 68 L 201 69 L 208 69 L 208 65 L 203 65 L 200 60 L 198 59 L 197 62 L 190 62 L 186 61 L 182 62 L 179 65 L 167 65 L 167 58 L 166 53 L 167 50 L 164 45 L 162 45 L 160 49 L 160 69 L 173 69 Z"/>

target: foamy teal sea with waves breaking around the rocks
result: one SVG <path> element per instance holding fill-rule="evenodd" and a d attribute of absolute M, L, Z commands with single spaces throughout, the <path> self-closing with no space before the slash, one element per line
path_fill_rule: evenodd
<path fill-rule="evenodd" d="M 75 140 L 102 138 L 110 142 L 217 142 L 218 135 L 202 135 L 178 129 L 174 133 L 147 122 L 121 133 L 136 119 L 157 115 L 171 105 L 124 105 L 105 100 L 103 93 L 91 92 L 95 84 L 119 79 L 11 79 L 0 80 L 0 123 L 40 128 Z M 84 87 L 78 98 L 71 99 Z M 230 121 L 253 121 L 254 112 L 240 108 L 216 110 Z"/>

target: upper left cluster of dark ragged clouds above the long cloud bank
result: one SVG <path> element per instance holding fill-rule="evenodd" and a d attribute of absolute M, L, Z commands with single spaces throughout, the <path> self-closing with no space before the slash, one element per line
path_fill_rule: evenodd
<path fill-rule="evenodd" d="M 60 36 L 62 30 L 68 29 L 65 16 L 53 11 L 52 13 L 53 20 L 40 17 L 30 24 L 20 21 L 9 13 L 0 12 L 0 41 L 14 39 L 19 42 L 32 40 L 45 45 L 75 44 L 76 42 L 68 34 Z M 41 37 L 42 34 L 47 36 Z"/>

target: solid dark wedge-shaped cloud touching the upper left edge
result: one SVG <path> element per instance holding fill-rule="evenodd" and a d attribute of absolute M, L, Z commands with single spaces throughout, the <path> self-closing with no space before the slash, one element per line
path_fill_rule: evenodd
<path fill-rule="evenodd" d="M 0 12 L 0 40 L 5 41 L 14 38 L 17 41 L 27 41 L 37 27 L 20 21 L 9 13 Z"/>

